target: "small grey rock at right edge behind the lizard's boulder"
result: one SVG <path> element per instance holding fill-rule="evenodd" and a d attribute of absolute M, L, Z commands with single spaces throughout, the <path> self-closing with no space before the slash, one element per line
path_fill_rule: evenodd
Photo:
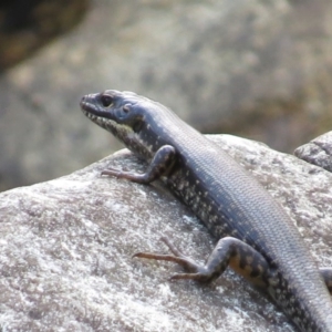
<path fill-rule="evenodd" d="M 332 132 L 299 146 L 294 155 L 312 165 L 332 172 Z"/>

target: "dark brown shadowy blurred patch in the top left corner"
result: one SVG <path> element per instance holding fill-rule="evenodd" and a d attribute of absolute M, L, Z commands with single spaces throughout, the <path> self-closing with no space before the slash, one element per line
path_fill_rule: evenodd
<path fill-rule="evenodd" d="M 29 0 L 0 3 L 0 72 L 76 25 L 87 0 Z"/>

